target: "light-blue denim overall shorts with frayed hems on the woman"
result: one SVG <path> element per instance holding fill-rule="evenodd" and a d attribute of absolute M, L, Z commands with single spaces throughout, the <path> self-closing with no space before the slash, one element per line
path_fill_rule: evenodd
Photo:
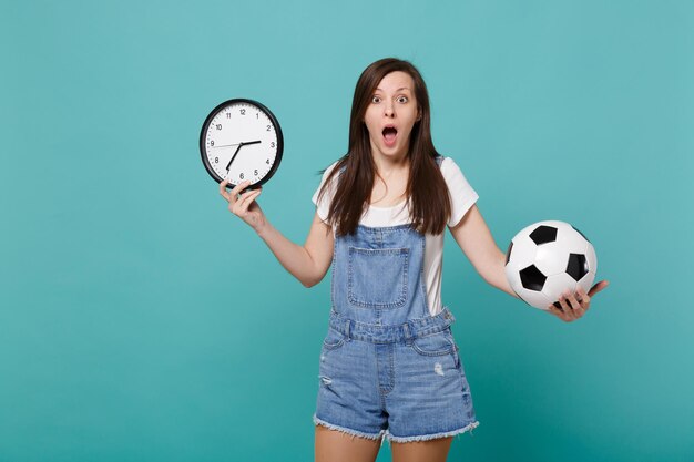
<path fill-rule="evenodd" d="M 395 442 L 474 429 L 470 388 L 447 307 L 431 316 L 425 235 L 410 225 L 336 236 L 333 307 L 314 423 Z"/>

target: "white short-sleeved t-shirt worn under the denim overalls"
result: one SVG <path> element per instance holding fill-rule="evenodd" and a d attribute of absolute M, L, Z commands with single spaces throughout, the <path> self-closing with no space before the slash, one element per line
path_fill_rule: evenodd
<path fill-rule="evenodd" d="M 330 187 L 326 191 L 326 194 L 318 203 L 318 192 L 325 182 L 325 178 L 330 174 L 337 162 L 333 163 L 323 174 L 320 185 L 314 194 L 312 201 L 316 204 L 316 212 L 318 216 L 326 222 L 328 217 L 328 211 L 330 207 L 330 201 L 335 194 L 336 179 L 331 182 Z M 441 174 L 448 185 L 448 193 L 451 197 L 451 217 L 448 220 L 448 226 L 456 226 L 465 214 L 474 205 L 479 196 L 477 192 L 472 189 L 472 186 L 468 183 L 465 175 L 458 167 L 458 164 L 450 158 L 445 157 L 441 162 Z M 382 226 L 397 226 L 410 223 L 409 207 L 407 201 L 395 205 L 392 207 L 376 207 L 369 206 L 361 216 L 359 224 L 370 227 Z M 333 228 L 335 233 L 335 227 Z M 426 234 L 425 236 L 425 286 L 427 288 L 427 300 L 429 302 L 429 311 L 431 316 L 441 312 L 441 269 L 443 264 L 443 233 L 439 235 Z"/>

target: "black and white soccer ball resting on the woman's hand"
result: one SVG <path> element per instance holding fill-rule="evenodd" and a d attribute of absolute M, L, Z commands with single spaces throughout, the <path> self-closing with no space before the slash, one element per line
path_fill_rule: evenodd
<path fill-rule="evenodd" d="M 506 253 L 506 277 L 528 305 L 547 310 L 559 296 L 581 286 L 586 292 L 595 279 L 593 245 L 564 222 L 539 222 L 518 233 Z"/>

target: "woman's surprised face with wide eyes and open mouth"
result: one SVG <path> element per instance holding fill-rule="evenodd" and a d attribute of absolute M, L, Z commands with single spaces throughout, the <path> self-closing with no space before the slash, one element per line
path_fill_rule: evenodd
<path fill-rule="evenodd" d="M 418 120 L 412 78 L 401 71 L 387 74 L 374 91 L 364 114 L 371 152 L 392 157 L 406 156 L 410 132 Z"/>

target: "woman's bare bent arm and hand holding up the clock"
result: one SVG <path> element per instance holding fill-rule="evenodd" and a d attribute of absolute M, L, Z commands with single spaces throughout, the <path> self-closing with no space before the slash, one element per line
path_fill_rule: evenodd
<path fill-rule="evenodd" d="M 248 184 L 249 182 L 241 183 L 231 193 L 226 192 L 226 181 L 220 184 L 220 194 L 228 201 L 229 211 L 258 234 L 282 266 L 305 287 L 320 283 L 333 260 L 334 236 L 330 226 L 316 213 L 306 243 L 299 246 L 290 242 L 267 222 L 261 206 L 255 202 L 262 188 L 238 195 Z"/>

